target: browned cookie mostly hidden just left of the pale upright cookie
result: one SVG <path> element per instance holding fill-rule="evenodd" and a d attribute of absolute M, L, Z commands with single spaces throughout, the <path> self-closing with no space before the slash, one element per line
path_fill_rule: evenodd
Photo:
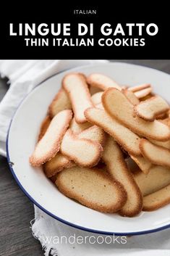
<path fill-rule="evenodd" d="M 62 110 L 72 110 L 72 104 L 63 88 L 54 97 L 53 101 L 48 107 L 48 115 L 53 118 Z"/>

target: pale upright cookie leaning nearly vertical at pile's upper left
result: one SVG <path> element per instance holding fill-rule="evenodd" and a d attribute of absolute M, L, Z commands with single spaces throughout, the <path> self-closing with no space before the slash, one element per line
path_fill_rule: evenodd
<path fill-rule="evenodd" d="M 79 73 L 69 73 L 64 76 L 62 86 L 72 102 L 76 122 L 85 123 L 84 112 L 88 107 L 93 107 L 85 78 Z"/>

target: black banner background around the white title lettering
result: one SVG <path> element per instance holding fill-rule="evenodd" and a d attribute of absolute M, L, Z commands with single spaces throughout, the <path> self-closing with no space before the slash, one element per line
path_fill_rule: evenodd
<path fill-rule="evenodd" d="M 97 15 L 73 15 L 73 9 L 96 9 Z M 17 2 L 14 1 L 14 7 L 10 3 L 10 9 L 7 10 L 8 15 L 5 18 L 3 15 L 0 16 L 0 59 L 170 59 L 169 6 L 163 3 L 158 2 L 157 5 L 154 2 L 153 5 L 148 5 L 145 1 L 135 4 L 131 4 L 130 1 L 127 3 L 119 1 L 118 4 L 116 1 L 111 1 L 109 4 L 107 1 L 102 4 L 88 4 L 85 1 L 85 4 L 81 4 L 80 1 L 78 3 L 71 1 L 69 4 L 67 1 L 63 6 L 61 3 L 56 6 L 48 1 L 48 4 L 41 3 L 36 9 L 31 1 L 24 1 L 24 4 L 20 4 L 18 8 Z M 25 46 L 24 37 L 9 36 L 10 22 L 14 25 L 25 22 L 30 24 L 35 22 L 37 25 L 41 22 L 48 24 L 69 22 L 73 28 L 79 22 L 86 24 L 91 22 L 95 27 L 95 41 L 105 37 L 100 33 L 103 23 L 110 23 L 113 28 L 117 23 L 122 25 L 128 22 L 156 23 L 159 30 L 156 36 L 147 36 L 146 33 L 137 36 L 137 30 L 135 31 L 132 37 L 145 37 L 146 46 Z M 72 37 L 77 37 L 77 31 L 74 29 Z"/>

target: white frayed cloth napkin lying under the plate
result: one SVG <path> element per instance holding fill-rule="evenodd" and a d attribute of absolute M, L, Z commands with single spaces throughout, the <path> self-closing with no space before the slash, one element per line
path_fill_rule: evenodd
<path fill-rule="evenodd" d="M 9 123 L 22 99 L 43 80 L 70 67 L 91 64 L 94 61 L 0 61 L 1 76 L 7 76 L 10 87 L 0 103 L 0 154 L 6 156 L 5 140 Z M 170 230 L 155 234 L 105 240 L 106 236 L 91 234 L 60 223 L 35 206 L 35 219 L 31 221 L 33 236 L 38 239 L 45 255 L 59 256 L 168 256 L 170 255 Z M 95 244 L 86 236 L 92 237 Z M 83 240 L 83 243 L 81 241 Z M 101 243 L 101 241 L 104 241 Z M 109 242 L 108 242 L 109 241 Z M 110 242 L 111 241 L 111 242 Z"/>

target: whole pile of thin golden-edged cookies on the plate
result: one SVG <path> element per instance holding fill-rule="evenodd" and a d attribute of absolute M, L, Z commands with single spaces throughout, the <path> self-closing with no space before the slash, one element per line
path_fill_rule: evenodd
<path fill-rule="evenodd" d="M 68 73 L 30 164 L 82 205 L 132 217 L 170 202 L 169 127 L 169 104 L 150 84 Z"/>

